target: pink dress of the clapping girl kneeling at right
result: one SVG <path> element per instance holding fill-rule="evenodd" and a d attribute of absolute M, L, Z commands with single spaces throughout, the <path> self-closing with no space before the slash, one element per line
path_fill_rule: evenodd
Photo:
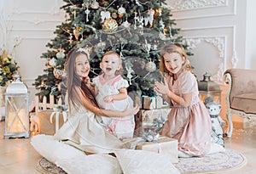
<path fill-rule="evenodd" d="M 203 156 L 211 148 L 212 122 L 207 108 L 198 97 L 198 86 L 195 76 L 188 70 L 177 75 L 165 76 L 169 89 L 183 96 L 184 93 L 193 93 L 189 107 L 183 107 L 173 102 L 167 96 L 163 98 L 173 107 L 168 120 L 162 129 L 162 135 L 178 140 L 178 149 L 193 156 Z"/>

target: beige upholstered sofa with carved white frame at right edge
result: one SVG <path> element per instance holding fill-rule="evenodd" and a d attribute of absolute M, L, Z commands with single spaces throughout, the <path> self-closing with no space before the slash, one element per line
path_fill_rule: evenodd
<path fill-rule="evenodd" d="M 256 116 L 256 70 L 226 70 L 224 81 L 229 84 L 226 115 L 229 123 L 227 137 L 231 138 L 234 114 L 243 118 Z"/>

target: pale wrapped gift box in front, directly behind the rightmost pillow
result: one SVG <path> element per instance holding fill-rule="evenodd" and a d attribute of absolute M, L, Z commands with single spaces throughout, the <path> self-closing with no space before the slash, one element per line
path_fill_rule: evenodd
<path fill-rule="evenodd" d="M 168 155 L 172 158 L 172 163 L 177 163 L 177 139 L 160 137 L 157 142 L 140 142 L 135 149 L 151 151 Z"/>

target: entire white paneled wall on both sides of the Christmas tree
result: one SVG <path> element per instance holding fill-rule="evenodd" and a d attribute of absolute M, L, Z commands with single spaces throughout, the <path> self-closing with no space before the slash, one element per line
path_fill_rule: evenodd
<path fill-rule="evenodd" d="M 40 59 L 55 36 L 55 26 L 65 20 L 62 0 L 0 0 L 0 48 L 8 48 L 20 65 L 29 90 L 46 68 Z M 195 54 L 190 58 L 201 80 L 208 71 L 222 82 L 224 70 L 256 69 L 255 0 L 167 0 L 172 19 Z M 4 14 L 4 15 L 3 15 Z M 15 46 L 15 48 L 14 48 Z"/>

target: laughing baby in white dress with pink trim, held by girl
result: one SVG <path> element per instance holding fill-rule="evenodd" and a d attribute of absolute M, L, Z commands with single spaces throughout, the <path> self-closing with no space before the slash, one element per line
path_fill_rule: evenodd
<path fill-rule="evenodd" d="M 96 101 L 102 109 L 124 110 L 127 105 L 133 106 L 127 95 L 128 81 L 120 76 L 122 62 L 118 53 L 109 51 L 103 55 L 100 64 L 102 75 L 93 79 L 95 84 Z M 103 117 L 102 123 L 108 132 L 117 138 L 132 138 L 135 122 L 134 115 L 117 117 Z"/>

